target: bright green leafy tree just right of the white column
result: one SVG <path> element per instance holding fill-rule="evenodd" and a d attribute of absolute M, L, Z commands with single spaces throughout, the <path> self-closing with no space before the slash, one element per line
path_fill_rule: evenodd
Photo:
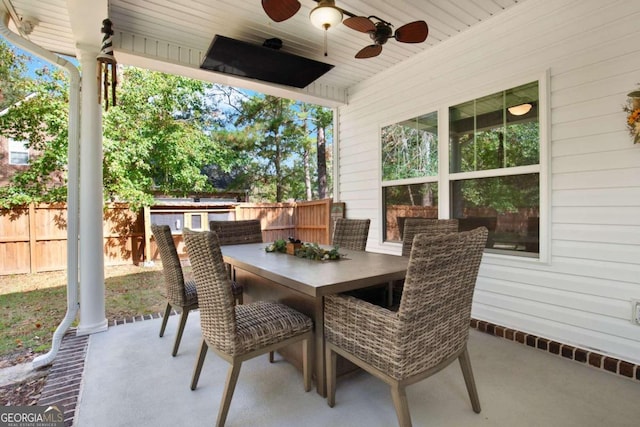
<path fill-rule="evenodd" d="M 202 170 L 221 160 L 209 130 L 216 111 L 211 85 L 125 67 L 118 105 L 104 114 L 104 187 L 112 199 L 149 204 L 154 190 L 186 195 L 210 191 Z M 134 125 L 132 125 L 134 124 Z"/>

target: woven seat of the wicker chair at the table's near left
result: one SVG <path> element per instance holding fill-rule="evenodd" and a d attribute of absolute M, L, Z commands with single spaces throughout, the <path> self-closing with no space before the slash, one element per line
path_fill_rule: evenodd
<path fill-rule="evenodd" d="M 235 355 L 266 347 L 313 328 L 313 322 L 308 316 L 279 303 L 258 301 L 237 305 L 235 311 Z"/>

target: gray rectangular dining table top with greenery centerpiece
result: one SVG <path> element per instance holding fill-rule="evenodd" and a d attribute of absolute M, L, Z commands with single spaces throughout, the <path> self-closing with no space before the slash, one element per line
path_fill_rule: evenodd
<path fill-rule="evenodd" d="M 407 257 L 340 250 L 345 258 L 314 261 L 265 251 L 269 243 L 222 246 L 225 262 L 307 295 L 319 297 L 403 279 Z"/>

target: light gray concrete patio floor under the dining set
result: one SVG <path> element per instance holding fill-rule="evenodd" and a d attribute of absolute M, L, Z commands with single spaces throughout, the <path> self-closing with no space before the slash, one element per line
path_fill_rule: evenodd
<path fill-rule="evenodd" d="M 180 351 L 171 357 L 177 316 L 164 338 L 161 319 L 92 335 L 74 425 L 212 426 L 228 364 L 209 352 L 195 391 L 189 389 L 200 342 L 192 313 Z M 458 363 L 407 389 L 414 426 L 637 426 L 640 386 L 530 347 L 471 330 L 469 353 L 482 412 L 475 414 Z M 364 373 L 338 380 L 336 405 L 302 375 L 267 356 L 243 364 L 226 425 L 397 425 L 388 387 Z"/>

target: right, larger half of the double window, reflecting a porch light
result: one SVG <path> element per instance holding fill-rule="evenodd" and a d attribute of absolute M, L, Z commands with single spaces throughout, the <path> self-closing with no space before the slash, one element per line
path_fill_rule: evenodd
<path fill-rule="evenodd" d="M 538 98 L 534 82 L 449 108 L 451 217 L 492 251 L 539 252 Z"/>

